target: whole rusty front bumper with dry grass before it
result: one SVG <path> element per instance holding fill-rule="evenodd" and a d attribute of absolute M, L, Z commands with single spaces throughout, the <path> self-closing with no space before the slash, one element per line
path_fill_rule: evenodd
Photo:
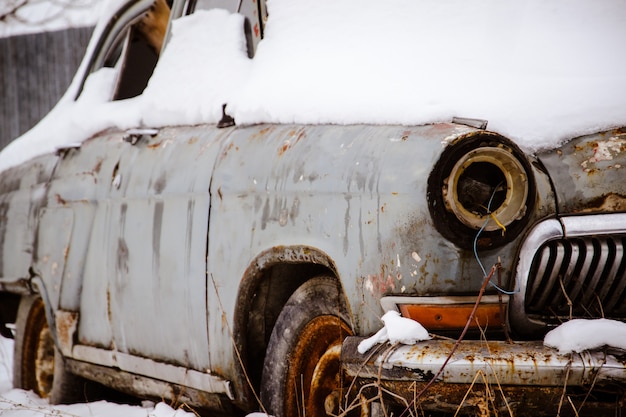
<path fill-rule="evenodd" d="M 516 416 L 559 411 L 603 415 L 626 404 L 624 352 L 559 355 L 541 342 L 463 341 L 436 382 L 416 398 L 439 372 L 455 341 L 378 345 L 362 355 L 357 351 L 361 340 L 349 337 L 342 348 L 343 370 L 355 378 L 351 395 L 361 401 L 382 400 L 385 406 L 417 410 L 510 409 Z"/>

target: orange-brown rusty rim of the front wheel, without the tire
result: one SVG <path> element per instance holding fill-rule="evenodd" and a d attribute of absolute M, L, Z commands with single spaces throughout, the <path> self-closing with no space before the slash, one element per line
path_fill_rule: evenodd
<path fill-rule="evenodd" d="M 351 335 L 350 328 L 338 317 L 319 316 L 300 333 L 289 358 L 287 415 L 323 417 L 336 412 L 342 385 L 341 342 Z"/>

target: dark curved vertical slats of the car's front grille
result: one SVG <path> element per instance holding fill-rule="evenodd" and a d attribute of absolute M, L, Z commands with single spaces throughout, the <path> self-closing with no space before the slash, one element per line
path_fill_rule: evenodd
<path fill-rule="evenodd" d="M 626 235 L 550 240 L 537 250 L 526 287 L 526 313 L 561 318 L 626 318 Z"/>

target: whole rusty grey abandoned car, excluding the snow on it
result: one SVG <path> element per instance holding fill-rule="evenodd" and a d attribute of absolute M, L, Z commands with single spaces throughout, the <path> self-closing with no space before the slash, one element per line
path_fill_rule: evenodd
<path fill-rule="evenodd" d="M 240 3 L 252 56 L 265 2 Z M 114 100 L 148 83 L 152 1 L 120 4 L 76 97 L 107 66 Z M 14 384 L 231 416 L 614 415 L 624 352 L 542 340 L 626 320 L 625 169 L 623 128 L 536 153 L 460 118 L 104 130 L 0 175 Z M 359 353 L 388 310 L 435 336 Z"/>

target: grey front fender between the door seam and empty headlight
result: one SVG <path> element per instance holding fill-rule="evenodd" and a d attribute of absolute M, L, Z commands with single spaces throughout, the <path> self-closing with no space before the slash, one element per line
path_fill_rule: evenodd
<path fill-rule="evenodd" d="M 377 305 L 386 293 L 476 291 L 483 274 L 474 254 L 442 241 L 426 203 L 433 164 L 471 131 L 447 124 L 238 128 L 214 173 L 212 218 L 219 220 L 210 227 L 209 257 L 240 262 L 280 242 L 342 259 L 339 276 L 355 316 L 374 320 L 358 324 L 366 331 L 378 319 L 360 314 L 364 296 Z M 218 237 L 227 233 L 245 240 L 233 246 Z M 509 274 L 512 249 L 485 253 L 485 264 L 500 257 Z M 214 274 L 220 281 L 232 275 Z"/>

